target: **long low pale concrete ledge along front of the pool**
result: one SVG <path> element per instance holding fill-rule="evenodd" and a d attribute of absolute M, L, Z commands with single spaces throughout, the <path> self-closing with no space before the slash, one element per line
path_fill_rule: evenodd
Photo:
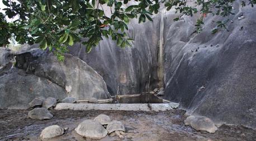
<path fill-rule="evenodd" d="M 178 103 L 143 103 L 143 104 L 83 104 L 83 103 L 58 103 L 56 110 L 134 110 L 134 111 L 164 111 L 178 108 Z"/>

